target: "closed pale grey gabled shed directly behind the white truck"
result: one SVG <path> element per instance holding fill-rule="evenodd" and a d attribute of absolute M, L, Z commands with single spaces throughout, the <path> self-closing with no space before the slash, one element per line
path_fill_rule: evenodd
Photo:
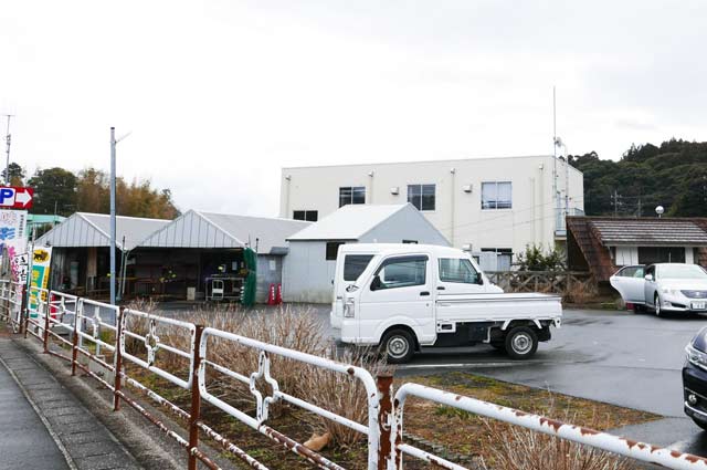
<path fill-rule="evenodd" d="M 331 302 L 339 246 L 344 243 L 450 242 L 420 213 L 405 205 L 347 205 L 288 238 L 283 269 L 286 302 Z"/>

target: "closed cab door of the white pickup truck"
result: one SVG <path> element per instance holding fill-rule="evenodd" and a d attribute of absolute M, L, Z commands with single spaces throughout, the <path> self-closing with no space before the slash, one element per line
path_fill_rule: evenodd
<path fill-rule="evenodd" d="M 435 337 L 434 285 L 426 254 L 393 255 L 381 261 L 363 292 L 359 305 L 359 333 L 365 341 L 377 343 L 378 326 L 397 317 L 401 324 L 414 326 L 420 343 Z M 378 332 L 380 333 L 380 332 Z"/>

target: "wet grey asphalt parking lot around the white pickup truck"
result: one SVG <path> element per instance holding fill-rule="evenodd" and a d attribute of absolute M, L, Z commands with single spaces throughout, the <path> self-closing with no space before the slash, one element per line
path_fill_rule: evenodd
<path fill-rule="evenodd" d="M 317 306 L 328 323 L 328 306 Z M 500 380 L 662 415 L 616 430 L 633 439 L 707 456 L 707 432 L 683 414 L 685 345 L 707 316 L 658 318 L 618 311 L 566 310 L 562 327 L 530 361 L 510 361 L 490 346 L 426 348 L 397 375 L 466 370 Z M 331 334 L 335 331 L 328 330 Z"/>

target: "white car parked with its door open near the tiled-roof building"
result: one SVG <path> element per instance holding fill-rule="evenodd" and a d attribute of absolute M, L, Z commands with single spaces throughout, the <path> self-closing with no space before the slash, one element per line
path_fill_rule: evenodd
<path fill-rule="evenodd" d="M 697 264 L 656 263 L 626 267 L 610 279 L 626 303 L 644 305 L 657 316 L 668 312 L 707 312 L 707 272 Z M 632 275 L 631 274 L 633 270 Z"/>

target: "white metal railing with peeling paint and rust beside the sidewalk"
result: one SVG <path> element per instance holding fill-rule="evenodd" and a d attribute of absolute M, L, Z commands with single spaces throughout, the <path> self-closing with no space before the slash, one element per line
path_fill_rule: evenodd
<path fill-rule="evenodd" d="M 440 468 L 465 469 L 455 462 L 404 442 L 404 409 L 409 397 L 418 397 L 669 469 L 707 469 L 707 460 L 700 457 L 567 425 L 419 384 L 403 384 L 393 394 L 392 377 L 389 375 L 373 377 L 368 370 L 354 365 L 262 343 L 221 330 L 137 310 L 122 309 L 56 291 L 32 288 L 25 292 L 20 284 L 0 281 L 0 318 L 12 325 L 15 333 L 23 333 L 24 337 L 31 336 L 41 341 L 46 354 L 71 363 L 72 376 L 81 369 L 85 375 L 97 380 L 112 393 L 115 411 L 118 411 L 125 403 L 172 438 L 184 448 L 190 470 L 197 468 L 198 461 L 209 469 L 220 468 L 203 452 L 200 437 L 209 438 L 252 468 L 267 469 L 239 448 L 235 442 L 230 441 L 203 421 L 202 403 L 212 405 L 221 412 L 297 453 L 317 468 L 342 469 L 327 457 L 272 428 L 267 424 L 272 405 L 286 403 L 366 436 L 368 439 L 366 467 L 369 470 L 402 470 L 405 456 Z M 182 342 L 181 345 L 170 344 L 165 336 L 168 331 L 179 331 L 188 341 Z M 257 370 L 244 375 L 233 370 L 229 364 L 220 363 L 209 354 L 213 342 L 225 342 L 252 351 L 257 355 Z M 177 358 L 183 367 L 179 370 L 160 367 L 157 358 L 165 355 Z M 336 415 L 307 401 L 307 397 L 296 397 L 281 390 L 277 379 L 271 374 L 271 357 L 274 356 L 359 380 L 367 394 L 368 419 L 366 422 Z M 186 390 L 190 397 L 189 409 L 180 408 L 136 377 L 128 375 L 127 364 L 131 365 L 131 369 L 135 367 L 144 374 L 154 375 L 171 386 Z M 255 416 L 239 409 L 211 389 L 211 383 L 207 377 L 214 374 L 221 374 L 249 387 L 256 404 Z M 258 380 L 264 380 L 270 386 L 268 396 L 263 396 L 258 390 L 256 386 Z M 126 391 L 126 388 L 131 393 Z M 183 426 L 177 429 L 170 428 L 143 404 L 140 397 L 149 399 L 158 408 L 176 417 Z"/>

